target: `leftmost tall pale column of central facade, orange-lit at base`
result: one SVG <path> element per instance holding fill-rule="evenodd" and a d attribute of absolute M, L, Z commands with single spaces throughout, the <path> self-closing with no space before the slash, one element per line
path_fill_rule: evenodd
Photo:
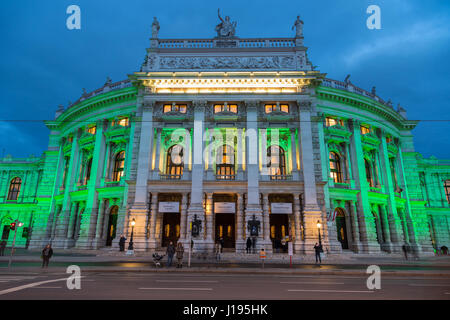
<path fill-rule="evenodd" d="M 153 111 L 154 101 L 144 101 L 144 97 L 137 98 L 137 109 L 142 112 L 142 121 L 138 123 L 136 134 L 140 136 L 139 151 L 137 155 L 137 172 L 134 201 L 125 219 L 128 225 L 124 225 L 124 233 L 129 228 L 129 223 L 135 219 L 133 243 L 135 251 L 146 249 L 147 215 L 148 215 L 148 180 L 150 173 L 150 158 L 153 141 Z M 139 119 L 138 119 L 139 120 Z M 139 128 L 140 127 L 140 128 Z M 140 131 L 139 131 L 140 129 Z M 125 223 L 125 222 L 124 222 Z"/>

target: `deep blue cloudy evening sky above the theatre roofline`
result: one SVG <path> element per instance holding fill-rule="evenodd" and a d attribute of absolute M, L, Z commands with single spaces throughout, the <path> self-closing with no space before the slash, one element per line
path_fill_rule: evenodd
<path fill-rule="evenodd" d="M 66 8 L 81 8 L 81 30 L 66 28 Z M 368 30 L 366 9 L 381 8 L 382 30 Z M 59 104 L 107 76 L 139 71 L 151 23 L 161 38 L 212 38 L 217 8 L 237 21 L 239 37 L 293 37 L 304 21 L 309 58 L 328 77 L 366 90 L 423 120 L 413 131 L 425 157 L 450 159 L 450 1 L 401 0 L 3 0 L 0 3 L 0 156 L 40 155 Z M 428 121 L 426 121 L 428 120 Z M 440 120 L 440 121 L 436 121 Z"/>

